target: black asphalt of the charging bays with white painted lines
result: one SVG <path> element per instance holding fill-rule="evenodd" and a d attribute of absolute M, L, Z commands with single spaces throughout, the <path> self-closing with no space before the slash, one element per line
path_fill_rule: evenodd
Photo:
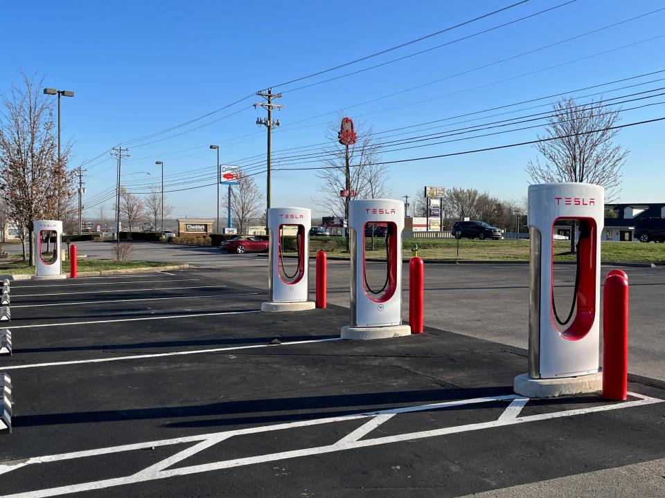
<path fill-rule="evenodd" d="M 519 347 L 431 324 L 342 341 L 346 308 L 262 314 L 265 263 L 223 261 L 12 283 L 0 495 L 601 496 L 626 468 L 626 496 L 662 490 L 663 382 L 529 400 Z"/>

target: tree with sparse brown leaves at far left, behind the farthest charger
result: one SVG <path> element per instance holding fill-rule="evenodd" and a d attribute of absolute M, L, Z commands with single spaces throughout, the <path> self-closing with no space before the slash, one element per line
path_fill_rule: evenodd
<path fill-rule="evenodd" d="M 3 97 L 0 113 L 0 188 L 8 202 L 10 219 L 24 228 L 22 237 L 30 238 L 33 221 L 58 219 L 62 206 L 71 199 L 73 172 L 67 171 L 71 144 L 57 160 L 57 132 L 54 99 L 42 94 L 43 78 L 22 74 L 21 86 L 12 85 Z M 30 243 L 28 264 L 33 264 Z"/>

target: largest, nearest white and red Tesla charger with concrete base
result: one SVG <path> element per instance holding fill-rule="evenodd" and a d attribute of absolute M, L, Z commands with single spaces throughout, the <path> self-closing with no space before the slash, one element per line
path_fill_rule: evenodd
<path fill-rule="evenodd" d="M 587 183 L 529 186 L 529 372 L 515 378 L 517 394 L 531 397 L 601 389 L 598 374 L 601 233 L 605 191 Z M 553 230 L 576 221 L 573 297 L 555 300 Z M 561 294 L 562 292 L 559 292 Z"/>

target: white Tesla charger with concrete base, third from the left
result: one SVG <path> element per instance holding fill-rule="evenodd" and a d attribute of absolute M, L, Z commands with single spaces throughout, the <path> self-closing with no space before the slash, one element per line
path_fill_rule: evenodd
<path fill-rule="evenodd" d="M 368 284 L 365 234 L 368 225 L 385 227 L 386 262 L 382 287 Z M 404 203 L 392 199 L 364 199 L 348 205 L 351 250 L 351 324 L 342 327 L 342 339 L 384 339 L 409 335 L 402 325 L 402 230 Z"/>

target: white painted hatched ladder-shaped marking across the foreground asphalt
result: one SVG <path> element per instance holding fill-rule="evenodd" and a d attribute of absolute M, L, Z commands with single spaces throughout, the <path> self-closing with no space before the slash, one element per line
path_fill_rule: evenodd
<path fill-rule="evenodd" d="M 649 396 L 643 396 L 641 394 L 635 394 L 635 393 L 629 393 L 630 396 L 634 396 L 636 398 L 639 398 L 638 400 L 634 401 L 626 401 L 623 403 L 612 403 L 610 405 L 601 405 L 601 406 L 596 406 L 596 407 L 589 407 L 589 408 L 580 408 L 580 409 L 571 409 L 571 410 L 565 410 L 563 412 L 552 412 L 552 413 L 547 413 L 547 414 L 536 414 L 536 415 L 529 415 L 529 416 L 523 416 L 523 417 L 499 417 L 498 420 L 496 421 L 490 421 L 490 422 L 482 422 L 482 423 L 472 423 L 472 424 L 465 424 L 465 425 L 458 425 L 454 427 L 442 427 L 440 429 L 435 429 L 435 430 L 428 430 L 428 431 L 420 431 L 420 432 L 408 432 L 405 434 L 396 434 L 393 436 L 385 436 L 385 437 L 379 437 L 379 438 L 373 438 L 373 439 L 364 439 L 362 441 L 359 441 L 357 437 L 352 436 L 352 434 L 359 434 L 360 432 L 366 432 L 369 431 L 364 431 L 364 428 L 369 429 L 368 424 L 364 424 L 360 427 L 359 429 L 353 430 L 351 434 L 348 434 L 347 436 L 342 437 L 342 439 L 339 439 L 337 443 L 332 443 L 331 445 L 324 445 L 324 446 L 319 446 L 316 448 L 305 448 L 303 450 L 292 450 L 292 451 L 286 451 L 286 452 L 277 452 L 277 453 L 270 453 L 270 454 L 263 454 L 263 455 L 258 455 L 256 457 L 245 457 L 245 458 L 239 458 L 239 459 L 231 459 L 231 460 L 224 460 L 224 461 L 216 461 L 212 463 L 204 463 L 204 464 L 199 464 L 199 465 L 190 465 L 188 467 L 180 467 L 180 468 L 170 468 L 172 465 L 179 461 L 183 461 L 184 459 L 191 457 L 194 454 L 197 454 L 201 452 L 202 450 L 205 450 L 206 448 L 211 448 L 211 446 L 218 444 L 222 441 L 225 441 L 232 436 L 242 436 L 244 434 L 258 434 L 261 432 L 271 432 L 271 431 L 276 431 L 276 430 L 285 430 L 285 429 L 292 429 L 294 427 L 305 427 L 305 426 L 311 426 L 311 425 L 321 425 L 321 424 L 328 424 L 328 423 L 335 423 L 335 422 L 342 422 L 342 421 L 350 421 L 350 420 L 355 420 L 355 419 L 360 419 L 360 418 L 371 418 L 372 421 L 375 419 L 379 419 L 378 422 L 374 423 L 371 426 L 371 429 L 374 429 L 381 425 L 381 423 L 384 423 L 387 421 L 391 416 L 395 414 L 402 414 L 402 413 L 408 413 L 408 412 L 416 412 L 416 411 L 421 411 L 423 409 L 441 409 L 441 408 L 446 408 L 446 407 L 451 407 L 451 406 L 456 406 L 456 405 L 465 405 L 465 404 L 470 404 L 470 403 L 487 403 L 491 401 L 499 401 L 499 400 L 524 400 L 525 398 L 522 398 L 522 396 L 515 396 L 515 395 L 508 395 L 508 396 L 488 396 L 486 398 L 474 398 L 470 400 L 457 400 L 457 401 L 452 401 L 452 402 L 443 402 L 443 403 L 432 403 L 429 405 L 419 405 L 419 406 L 413 406 L 413 407 L 404 407 L 404 408 L 396 408 L 396 409 L 389 409 L 389 410 L 381 410 L 378 412 L 366 412 L 362 414 L 357 414 L 357 415 L 346 415 L 346 416 L 337 416 L 337 417 L 329 417 L 329 418 L 319 418 L 319 419 L 314 419 L 314 420 L 309 420 L 309 421 L 299 421 L 299 422 L 291 422 L 291 423 L 282 423 L 282 424 L 276 424 L 276 425 L 266 425 L 263 427 L 248 427 L 246 429 L 238 429 L 238 430 L 230 430 L 230 431 L 224 431 L 224 432 L 215 432 L 212 434 L 202 434 L 199 436 L 188 436 L 184 438 L 175 438 L 175 439 L 165 439 L 162 441 L 150 441 L 148 443 L 137 443 L 137 444 L 132 444 L 132 445 L 121 445 L 121 446 L 115 446 L 115 447 L 110 447 L 110 448 L 100 448 L 98 450 L 87 450 L 87 451 L 81 451 L 81 452 L 71 452 L 71 453 L 63 453 L 63 454 L 55 454 L 55 455 L 46 455 L 44 457 L 33 457 L 30 459 L 26 459 L 24 461 L 20 461 L 18 463 L 5 463 L 4 465 L 0 465 L 0 474 L 6 473 L 6 472 L 11 472 L 12 470 L 16 470 L 19 468 L 26 467 L 28 465 L 34 465 L 34 464 L 44 464 L 44 463 L 50 463 L 50 462 L 57 462 L 57 461 L 64 461 L 64 460 L 72 460 L 72 459 L 80 459 L 80 458 L 85 458 L 85 457 L 96 457 L 99 455 L 106 455 L 106 454 L 112 454 L 112 453 L 118 453 L 118 452 L 128 452 L 128 451 L 134 451 L 134 450 L 142 450 L 142 449 L 147 449 L 147 448 L 154 448 L 157 446 L 168 446 L 168 445 L 176 445 L 179 443 L 195 443 L 197 444 L 191 446 L 190 448 L 186 448 L 186 450 L 182 450 L 171 457 L 167 457 L 166 459 L 163 459 L 162 461 L 155 463 L 153 465 L 150 465 L 148 468 L 145 468 L 143 470 L 139 470 L 139 472 L 136 472 L 135 474 L 126 476 L 126 477 L 116 477 L 114 479 L 103 479 L 101 481 L 92 481 L 92 482 L 87 482 L 87 483 L 79 483 L 79 484 L 73 484 L 69 486 L 60 486 L 57 488 L 48 488 L 48 489 L 42 489 L 42 490 L 33 490 L 33 491 L 28 491 L 28 492 L 21 492 L 17 493 L 15 495 L 6 495 L 5 498 L 35 498 L 35 497 L 52 497 L 52 496 L 57 496 L 57 495 L 66 495 L 68 493 L 74 493 L 74 492 L 84 492 L 84 491 L 89 491 L 89 490 L 99 490 L 99 489 L 105 489 L 105 488 L 111 488 L 114 486 L 124 486 L 127 484 L 132 484 L 132 483 L 140 483 L 140 482 L 145 482 L 145 481 L 154 481 L 157 479 L 166 479 L 168 477 L 176 477 L 176 476 L 184 476 L 184 475 L 189 475 L 189 474 L 196 474 L 200 472 L 211 472 L 213 470 L 220 470 L 224 468 L 234 468 L 234 467 L 241 467 L 244 465 L 253 465 L 256 463 L 267 463 L 267 462 L 272 462 L 272 461 L 280 461 L 284 459 L 292 459 L 292 458 L 297 458 L 297 457 L 307 457 L 311 455 L 316 455 L 316 454 L 326 454 L 326 453 L 332 453 L 332 452 L 339 452 L 339 451 L 345 451 L 345 450 L 354 450 L 356 448 L 368 448 L 370 446 L 375 446 L 375 445 L 382 445 L 382 444 L 389 444 L 389 443 L 397 443 L 400 441 L 414 441 L 416 439 L 424 439 L 424 438 L 429 438 L 429 437 L 434 437 L 434 436 L 445 436 L 447 434 L 459 434 L 462 432 L 470 432 L 470 431 L 475 431 L 475 430 L 484 430 L 484 429 L 489 429 L 489 428 L 495 428 L 495 427 L 505 427 L 507 425 L 515 425 L 517 423 L 527 423 L 527 422 L 535 422 L 535 421 L 544 421 L 544 420 L 549 420 L 553 418 L 562 418 L 562 417 L 567 417 L 567 416 L 576 416 L 576 415 L 582 415 L 582 414 L 591 414 L 591 413 L 598 413 L 598 412 L 605 412 L 608 410 L 614 410 L 614 409 L 623 409 L 623 408 L 630 408 L 630 407 L 637 407 L 637 406 L 644 406 L 644 405 L 651 405 L 653 403 L 662 403 L 662 400 L 658 398 L 650 398 Z M 511 403 L 512 405 L 512 403 Z M 387 417 L 389 416 L 389 417 Z M 371 430 L 370 429 L 370 430 Z M 364 434 L 362 434 L 364 435 Z M 168 469 L 168 470 L 165 470 Z"/>

